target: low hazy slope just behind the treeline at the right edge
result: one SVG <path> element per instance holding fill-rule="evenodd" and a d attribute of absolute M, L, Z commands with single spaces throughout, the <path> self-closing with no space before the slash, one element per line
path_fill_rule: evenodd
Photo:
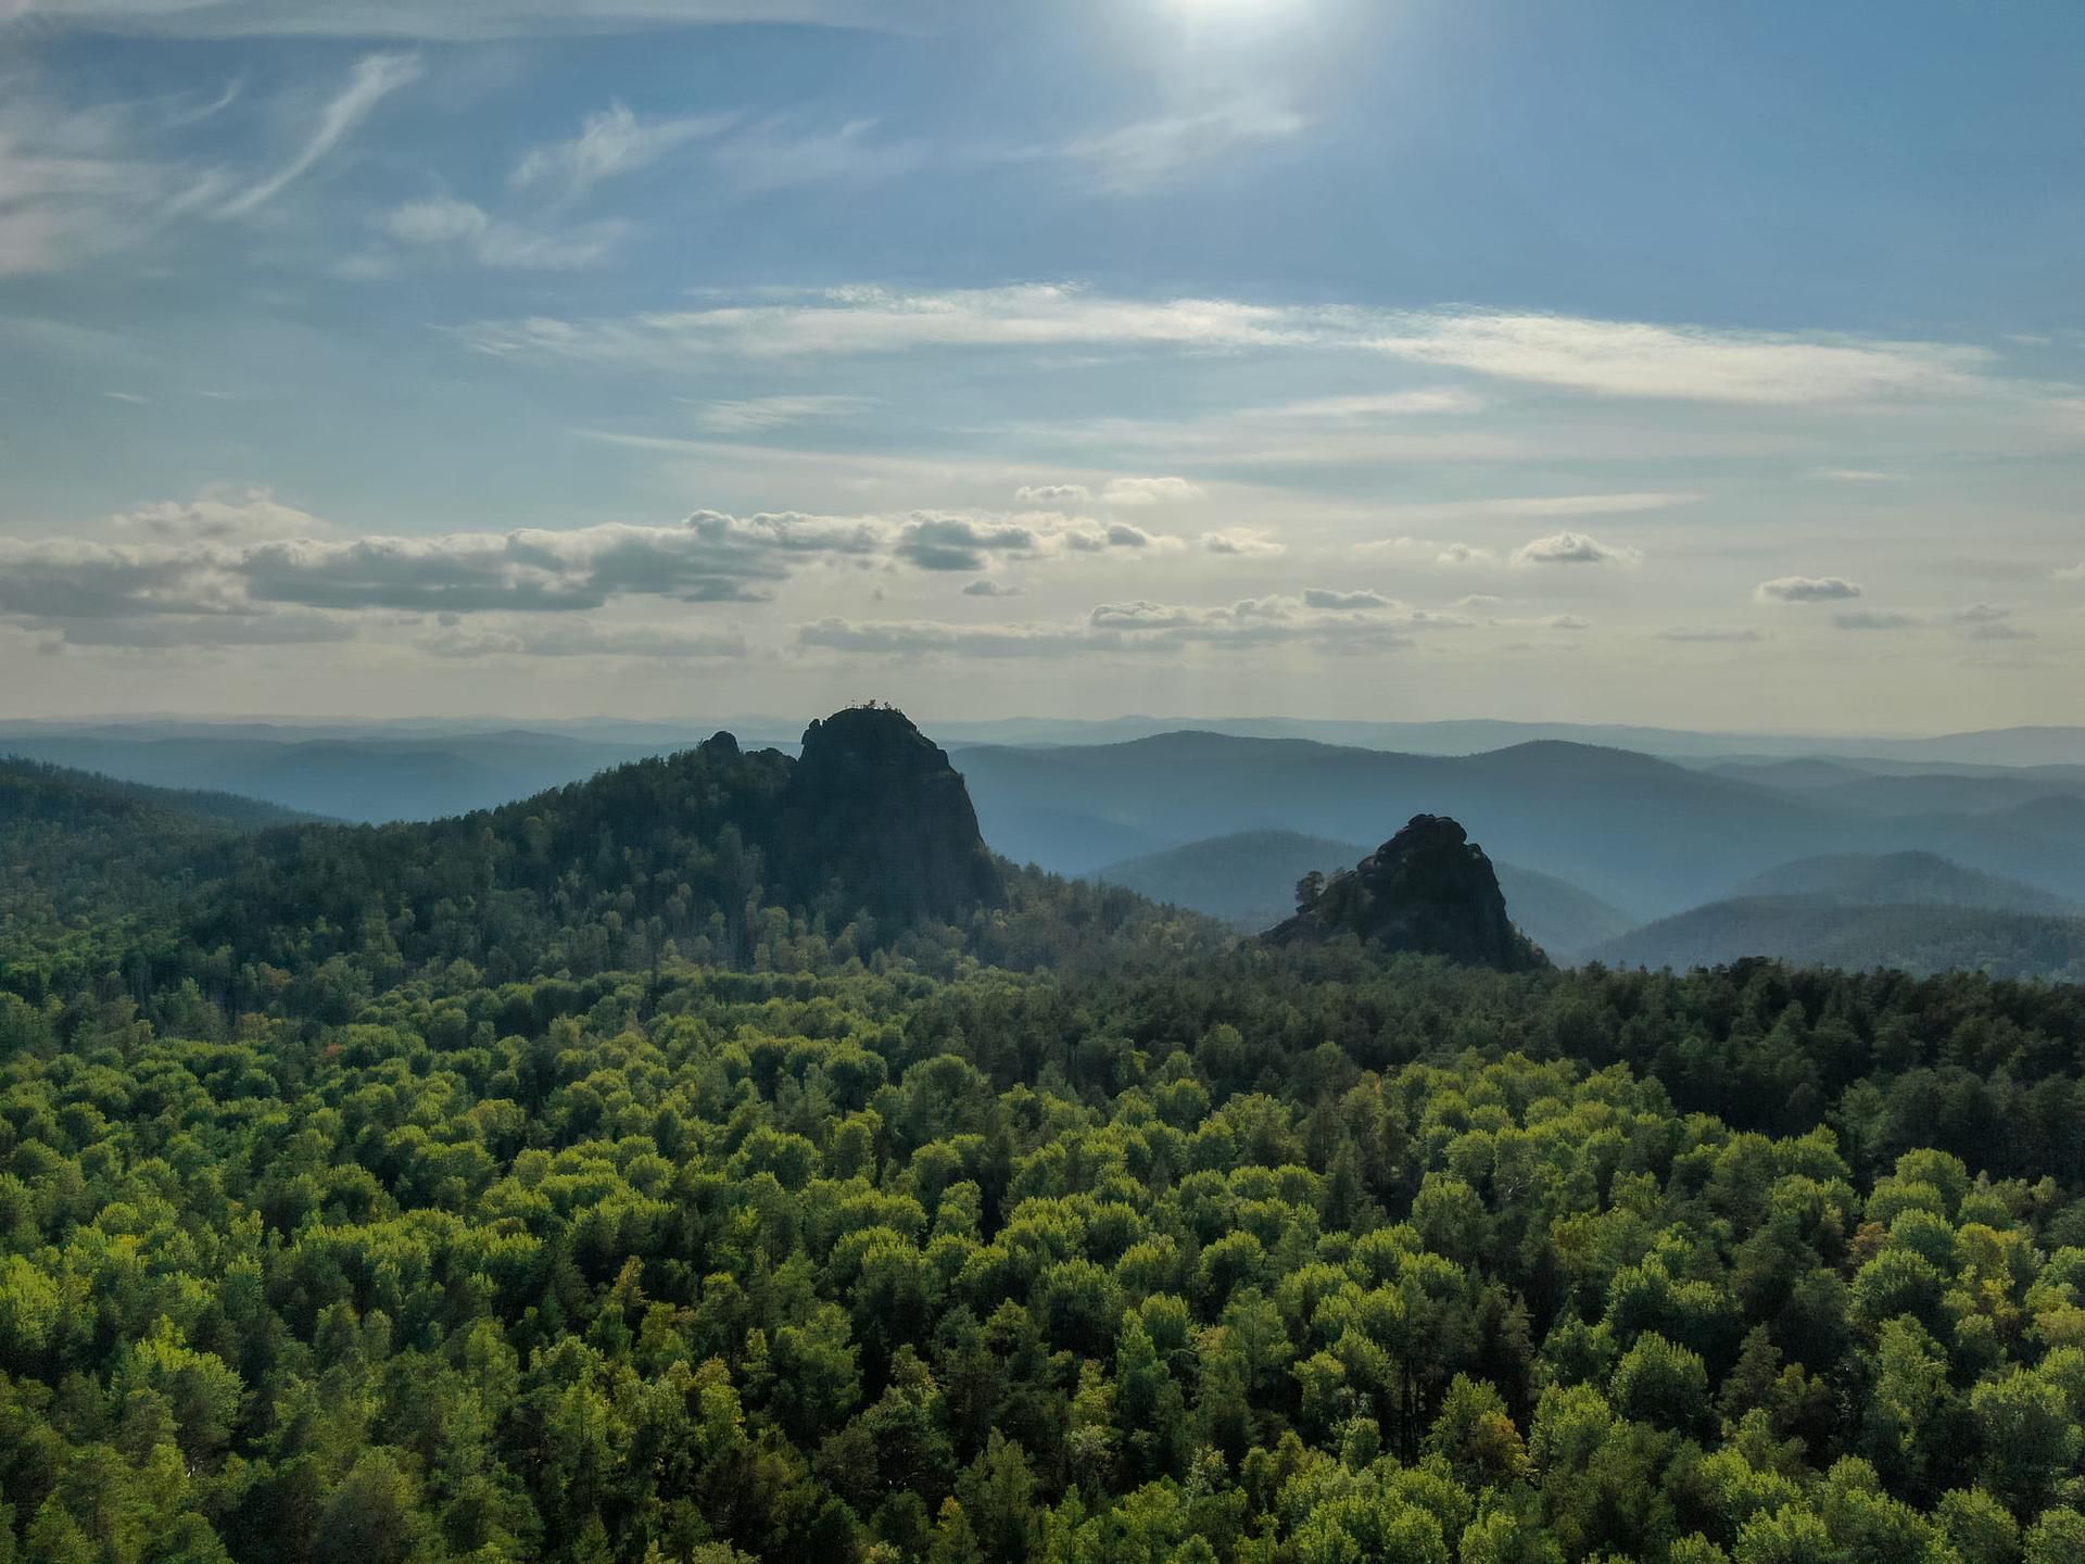
<path fill-rule="evenodd" d="M 1941 907 L 1854 905 L 1831 897 L 1712 901 L 1608 940 L 1589 959 L 1685 972 L 1766 955 L 1793 966 L 1914 974 L 1964 968 L 1993 978 L 2085 982 L 2085 918 Z"/>

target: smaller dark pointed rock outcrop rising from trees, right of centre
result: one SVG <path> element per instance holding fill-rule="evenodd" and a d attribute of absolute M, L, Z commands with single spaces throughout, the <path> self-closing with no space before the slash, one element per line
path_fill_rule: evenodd
<path fill-rule="evenodd" d="M 1297 915 L 1268 930 L 1276 945 L 1359 934 L 1387 951 L 1445 955 L 1526 972 L 1547 957 L 1505 915 L 1485 849 L 1447 815 L 1414 815 L 1401 832 L 1322 886 L 1297 888 Z"/>

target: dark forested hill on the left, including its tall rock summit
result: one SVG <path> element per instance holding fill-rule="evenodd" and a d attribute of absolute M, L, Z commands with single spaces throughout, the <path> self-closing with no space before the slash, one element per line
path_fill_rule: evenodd
<path fill-rule="evenodd" d="M 813 722 L 803 753 L 730 734 L 427 824 L 271 832 L 223 849 L 202 947 L 281 966 L 365 953 L 500 972 L 751 961 L 771 909 L 863 949 L 1007 899 L 963 778 L 899 711 Z"/>

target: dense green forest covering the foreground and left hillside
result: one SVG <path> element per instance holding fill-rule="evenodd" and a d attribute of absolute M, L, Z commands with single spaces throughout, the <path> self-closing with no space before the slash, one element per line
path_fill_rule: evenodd
<path fill-rule="evenodd" d="M 121 918 L 19 820 L 0 1560 L 2085 1556 L 2085 991 L 1276 949 L 799 776 Z"/>

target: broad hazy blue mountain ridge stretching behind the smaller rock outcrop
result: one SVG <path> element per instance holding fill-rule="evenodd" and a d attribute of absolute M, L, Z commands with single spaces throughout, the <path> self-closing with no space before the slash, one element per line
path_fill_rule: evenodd
<path fill-rule="evenodd" d="M 1180 732 L 1124 744 L 976 747 L 955 759 L 986 840 L 1059 874 L 1247 830 L 1366 840 L 1384 817 L 1451 811 L 1499 859 L 1578 886 L 1635 922 L 1726 897 L 1776 863 L 1833 853 L 1939 853 L 2085 901 L 2085 799 L 2062 792 L 1979 811 L 1872 813 L 1557 740 L 1443 757 Z"/>

